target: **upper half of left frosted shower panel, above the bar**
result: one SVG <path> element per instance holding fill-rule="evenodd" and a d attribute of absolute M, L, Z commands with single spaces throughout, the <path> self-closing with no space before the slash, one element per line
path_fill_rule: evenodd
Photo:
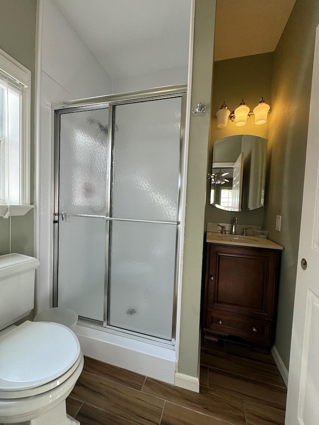
<path fill-rule="evenodd" d="M 108 108 L 60 115 L 60 212 L 105 215 L 108 120 Z"/>

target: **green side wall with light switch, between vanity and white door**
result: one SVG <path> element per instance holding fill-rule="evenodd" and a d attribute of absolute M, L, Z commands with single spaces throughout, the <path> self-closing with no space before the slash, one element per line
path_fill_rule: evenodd
<path fill-rule="evenodd" d="M 269 127 L 270 179 L 265 222 L 269 238 L 284 246 L 276 348 L 289 368 L 309 105 L 319 2 L 297 0 L 274 52 Z M 281 232 L 275 230 L 282 216 Z"/>

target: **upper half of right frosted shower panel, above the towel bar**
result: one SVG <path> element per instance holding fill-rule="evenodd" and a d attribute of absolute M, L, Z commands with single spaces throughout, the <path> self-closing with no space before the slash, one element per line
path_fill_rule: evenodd
<path fill-rule="evenodd" d="M 115 107 L 117 218 L 177 221 L 181 97 Z"/>

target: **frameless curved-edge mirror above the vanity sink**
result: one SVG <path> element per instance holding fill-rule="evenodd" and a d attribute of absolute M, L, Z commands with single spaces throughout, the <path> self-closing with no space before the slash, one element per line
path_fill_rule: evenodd
<path fill-rule="evenodd" d="M 267 139 L 236 135 L 213 147 L 210 204 L 227 211 L 264 206 Z"/>

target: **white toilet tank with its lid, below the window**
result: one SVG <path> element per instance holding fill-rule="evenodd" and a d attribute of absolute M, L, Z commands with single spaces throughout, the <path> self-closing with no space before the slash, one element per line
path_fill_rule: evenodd
<path fill-rule="evenodd" d="M 36 258 L 0 256 L 0 330 L 26 316 L 34 306 Z"/>

